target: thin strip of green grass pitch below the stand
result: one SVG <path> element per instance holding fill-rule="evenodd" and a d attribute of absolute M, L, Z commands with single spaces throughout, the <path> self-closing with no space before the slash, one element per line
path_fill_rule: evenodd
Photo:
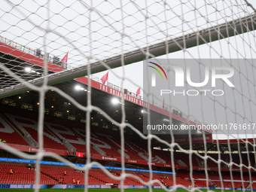
<path fill-rule="evenodd" d="M 0 189 L 1 192 L 32 192 L 33 189 Z M 84 189 L 41 189 L 40 192 L 59 192 L 59 191 L 65 191 L 65 192 L 82 192 Z M 120 191 L 120 189 L 88 189 L 89 192 L 117 192 Z M 137 191 L 143 191 L 147 192 L 148 189 L 125 189 L 125 192 L 137 192 Z M 163 192 L 166 190 L 163 189 L 152 189 L 154 192 Z M 177 192 L 186 192 L 187 190 L 184 189 L 178 189 Z M 206 189 L 203 189 L 202 191 L 207 191 Z M 221 192 L 221 190 L 212 190 L 216 192 Z M 233 190 L 224 190 L 224 192 L 231 192 Z"/>

